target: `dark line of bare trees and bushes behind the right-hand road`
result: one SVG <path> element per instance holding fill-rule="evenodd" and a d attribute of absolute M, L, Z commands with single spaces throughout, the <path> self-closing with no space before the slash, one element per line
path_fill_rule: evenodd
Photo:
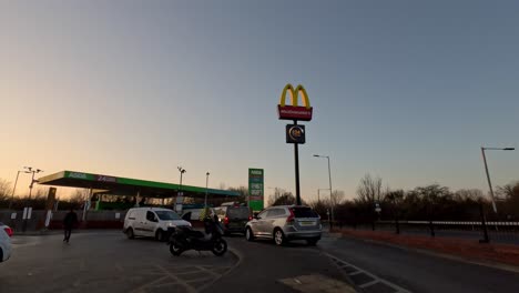
<path fill-rule="evenodd" d="M 334 206 L 335 221 L 349 224 L 395 219 L 479 221 L 480 208 L 488 220 L 519 221 L 519 181 L 497 186 L 495 193 L 498 213 L 493 213 L 490 196 L 478 189 L 451 191 L 448 186 L 435 183 L 407 191 L 393 190 L 385 186 L 380 178 L 366 174 L 360 179 L 356 196 L 352 200 L 346 200 L 343 191 L 334 190 L 332 199 L 314 199 L 304 204 L 311 205 L 322 219 L 327 219 Z M 282 189 L 275 189 L 268 199 L 268 205 L 294 203 L 295 196 Z"/>

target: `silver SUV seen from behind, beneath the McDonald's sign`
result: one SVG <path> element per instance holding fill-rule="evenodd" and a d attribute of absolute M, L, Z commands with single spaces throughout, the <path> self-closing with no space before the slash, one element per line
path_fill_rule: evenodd
<path fill-rule="evenodd" d="M 245 238 L 273 239 L 277 245 L 291 240 L 306 240 L 315 245 L 320 240 L 320 216 L 312 208 L 278 205 L 262 211 L 245 226 Z"/>

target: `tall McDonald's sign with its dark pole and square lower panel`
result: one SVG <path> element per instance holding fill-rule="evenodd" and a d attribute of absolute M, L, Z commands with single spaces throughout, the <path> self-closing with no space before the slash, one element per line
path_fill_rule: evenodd
<path fill-rule="evenodd" d="M 291 104 L 286 104 L 286 94 L 289 94 Z M 298 105 L 299 93 L 303 99 L 303 105 Z M 305 125 L 297 124 L 297 121 L 311 121 L 313 109 L 309 104 L 308 94 L 303 85 L 297 85 L 295 89 L 292 84 L 286 84 L 283 89 L 277 113 L 279 120 L 292 120 L 294 124 L 286 125 L 286 143 L 294 144 L 294 163 L 295 163 L 295 183 L 296 183 L 296 203 L 302 204 L 299 189 L 299 144 L 306 142 Z"/>

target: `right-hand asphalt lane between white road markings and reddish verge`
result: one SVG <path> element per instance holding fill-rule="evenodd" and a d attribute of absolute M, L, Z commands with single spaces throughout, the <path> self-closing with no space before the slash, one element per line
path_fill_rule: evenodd
<path fill-rule="evenodd" d="M 320 247 L 344 261 L 357 285 L 378 279 L 409 292 L 519 292 L 519 274 L 509 271 L 362 240 L 328 239 Z M 396 291 L 372 289 L 366 291 Z"/>

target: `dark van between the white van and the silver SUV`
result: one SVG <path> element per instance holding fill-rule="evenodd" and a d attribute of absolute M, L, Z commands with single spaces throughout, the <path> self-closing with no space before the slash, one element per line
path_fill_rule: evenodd
<path fill-rule="evenodd" d="M 225 234 L 245 234 L 245 225 L 253 219 L 251 209 L 238 204 L 217 206 L 214 208 L 214 212 L 223 224 Z"/>

